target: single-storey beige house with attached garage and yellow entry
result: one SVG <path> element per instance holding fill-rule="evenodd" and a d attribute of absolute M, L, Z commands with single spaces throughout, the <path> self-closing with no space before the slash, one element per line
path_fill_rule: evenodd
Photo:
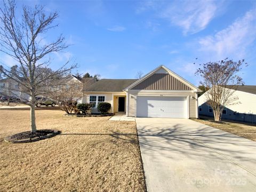
<path fill-rule="evenodd" d="M 164 66 L 140 79 L 101 79 L 84 89 L 82 102 L 93 105 L 111 103 L 110 112 L 135 117 L 197 118 L 195 85 Z"/>

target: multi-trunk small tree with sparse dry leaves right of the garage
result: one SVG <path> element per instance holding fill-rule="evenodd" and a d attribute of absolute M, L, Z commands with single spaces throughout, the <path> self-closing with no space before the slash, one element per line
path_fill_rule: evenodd
<path fill-rule="evenodd" d="M 205 92 L 205 97 L 213 109 L 215 121 L 220 121 L 225 106 L 235 104 L 236 98 L 231 96 L 237 85 L 243 84 L 242 78 L 238 75 L 243 65 L 244 60 L 235 62 L 226 58 L 221 61 L 200 64 L 201 68 L 196 70 L 195 74 L 203 78 L 200 84 L 211 87 Z M 245 65 L 247 66 L 247 63 Z"/>

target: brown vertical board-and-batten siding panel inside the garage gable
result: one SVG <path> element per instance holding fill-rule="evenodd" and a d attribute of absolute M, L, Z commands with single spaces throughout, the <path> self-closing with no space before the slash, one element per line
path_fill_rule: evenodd
<path fill-rule="evenodd" d="M 189 86 L 178 81 L 170 74 L 154 74 L 132 90 L 191 90 Z"/>

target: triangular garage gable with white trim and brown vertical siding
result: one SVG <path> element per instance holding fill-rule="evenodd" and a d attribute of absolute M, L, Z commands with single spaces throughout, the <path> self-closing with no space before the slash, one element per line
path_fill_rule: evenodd
<path fill-rule="evenodd" d="M 125 90 L 194 90 L 201 92 L 195 85 L 164 66 L 157 67 L 126 87 Z"/>

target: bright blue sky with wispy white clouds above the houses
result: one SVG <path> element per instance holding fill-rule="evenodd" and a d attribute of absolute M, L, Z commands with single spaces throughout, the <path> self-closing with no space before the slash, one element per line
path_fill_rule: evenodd
<path fill-rule="evenodd" d="M 228 57 L 245 59 L 244 82 L 256 84 L 255 1 L 17 2 L 22 4 L 59 13 L 59 27 L 44 37 L 63 34 L 70 46 L 52 55 L 52 66 L 71 60 L 79 73 L 135 78 L 137 71 L 145 75 L 165 65 L 198 85 L 198 63 Z M 11 65 L 8 59 L 1 55 Z"/>

